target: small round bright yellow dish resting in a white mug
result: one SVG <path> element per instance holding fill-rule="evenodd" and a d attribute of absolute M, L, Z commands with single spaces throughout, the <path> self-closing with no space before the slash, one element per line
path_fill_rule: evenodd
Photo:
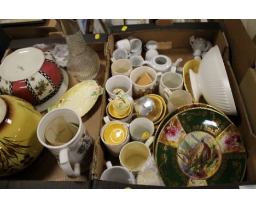
<path fill-rule="evenodd" d="M 103 133 L 103 138 L 110 145 L 118 145 L 124 142 L 127 136 L 127 129 L 123 124 L 111 123 Z"/>

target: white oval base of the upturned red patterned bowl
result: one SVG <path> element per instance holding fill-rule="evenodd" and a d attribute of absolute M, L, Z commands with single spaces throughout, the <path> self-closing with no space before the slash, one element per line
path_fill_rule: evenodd
<path fill-rule="evenodd" d="M 26 79 L 41 68 L 44 59 L 44 53 L 37 48 L 21 48 L 4 59 L 0 76 L 11 82 Z"/>

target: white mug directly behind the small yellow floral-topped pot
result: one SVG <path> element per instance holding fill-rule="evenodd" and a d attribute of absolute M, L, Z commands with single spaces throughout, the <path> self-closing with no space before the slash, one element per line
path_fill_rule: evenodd
<path fill-rule="evenodd" d="M 115 96 L 117 96 L 113 94 L 113 90 L 117 88 L 123 89 L 125 92 L 124 95 L 132 97 L 132 81 L 127 76 L 116 75 L 110 77 L 105 84 L 105 88 L 107 90 L 108 96 L 111 99 L 114 99 Z"/>

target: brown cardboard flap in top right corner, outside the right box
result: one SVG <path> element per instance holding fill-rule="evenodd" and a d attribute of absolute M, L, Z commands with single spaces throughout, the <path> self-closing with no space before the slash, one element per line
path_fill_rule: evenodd
<path fill-rule="evenodd" d="M 231 63 L 238 84 L 247 70 L 254 66 L 256 46 L 240 20 L 224 20 L 224 32 L 231 48 Z"/>

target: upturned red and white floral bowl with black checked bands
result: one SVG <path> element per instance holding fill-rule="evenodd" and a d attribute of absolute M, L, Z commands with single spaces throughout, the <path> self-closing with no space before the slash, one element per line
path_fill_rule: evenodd
<path fill-rule="evenodd" d="M 21 48 L 9 54 L 0 65 L 0 91 L 20 97 L 37 106 L 60 89 L 63 75 L 53 54 L 38 48 Z"/>

